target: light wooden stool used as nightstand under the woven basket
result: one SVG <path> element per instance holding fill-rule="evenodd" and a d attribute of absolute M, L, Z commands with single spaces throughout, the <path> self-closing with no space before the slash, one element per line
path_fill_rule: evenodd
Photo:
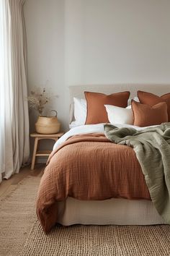
<path fill-rule="evenodd" d="M 63 136 L 64 132 L 56 133 L 55 135 L 41 135 L 40 133 L 32 133 L 30 137 L 35 137 L 35 146 L 32 155 L 32 164 L 31 170 L 35 168 L 35 158 L 36 156 L 49 156 L 52 150 L 38 150 L 38 142 L 39 140 L 55 140 L 57 141 L 61 136 Z"/>

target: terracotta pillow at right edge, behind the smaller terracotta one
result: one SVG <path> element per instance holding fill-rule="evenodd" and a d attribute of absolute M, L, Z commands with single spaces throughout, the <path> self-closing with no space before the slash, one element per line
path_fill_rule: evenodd
<path fill-rule="evenodd" d="M 170 93 L 166 93 L 159 97 L 158 95 L 155 95 L 153 93 L 146 93 L 141 90 L 138 90 L 138 98 L 140 103 L 147 104 L 148 106 L 153 106 L 160 102 L 166 102 L 170 121 Z"/>

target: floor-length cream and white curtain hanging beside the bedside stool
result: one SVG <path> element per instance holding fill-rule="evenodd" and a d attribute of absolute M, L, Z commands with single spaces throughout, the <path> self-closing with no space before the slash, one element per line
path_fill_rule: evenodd
<path fill-rule="evenodd" d="M 24 0 L 0 0 L 0 182 L 30 155 Z"/>

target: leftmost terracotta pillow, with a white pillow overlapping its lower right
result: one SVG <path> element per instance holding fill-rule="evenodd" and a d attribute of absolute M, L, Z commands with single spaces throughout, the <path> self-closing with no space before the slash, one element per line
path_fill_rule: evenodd
<path fill-rule="evenodd" d="M 84 92 L 87 103 L 86 124 L 109 123 L 107 111 L 104 105 L 114 105 L 126 108 L 130 92 L 104 93 Z"/>

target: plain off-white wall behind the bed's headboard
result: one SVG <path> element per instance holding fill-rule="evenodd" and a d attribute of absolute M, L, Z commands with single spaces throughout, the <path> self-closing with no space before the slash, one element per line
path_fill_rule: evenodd
<path fill-rule="evenodd" d="M 68 86 L 170 82 L 169 0 L 27 0 L 29 89 L 52 88 L 67 128 Z"/>

